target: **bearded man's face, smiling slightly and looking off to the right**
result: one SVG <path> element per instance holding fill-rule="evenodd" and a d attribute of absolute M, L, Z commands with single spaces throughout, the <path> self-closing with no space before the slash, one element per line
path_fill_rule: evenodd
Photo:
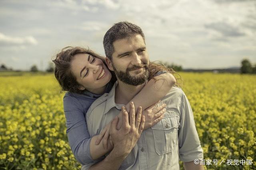
<path fill-rule="evenodd" d="M 113 43 L 112 68 L 116 77 L 128 85 L 141 85 L 149 74 L 146 45 L 139 34 Z"/>

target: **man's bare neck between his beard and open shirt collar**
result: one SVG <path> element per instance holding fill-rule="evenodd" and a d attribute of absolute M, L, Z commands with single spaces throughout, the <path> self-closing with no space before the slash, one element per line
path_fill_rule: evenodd
<path fill-rule="evenodd" d="M 116 86 L 115 92 L 115 102 L 118 104 L 126 105 L 132 98 L 138 94 L 144 87 L 145 83 L 142 85 L 134 86 L 127 85 L 122 81 L 118 80 L 118 85 Z"/>

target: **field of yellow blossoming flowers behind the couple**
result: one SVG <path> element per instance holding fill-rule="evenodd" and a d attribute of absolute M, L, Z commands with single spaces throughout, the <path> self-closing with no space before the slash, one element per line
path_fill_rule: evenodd
<path fill-rule="evenodd" d="M 256 169 L 256 76 L 180 75 L 205 168 Z M 52 74 L 0 74 L 0 168 L 81 168 L 68 145 L 63 96 Z"/>

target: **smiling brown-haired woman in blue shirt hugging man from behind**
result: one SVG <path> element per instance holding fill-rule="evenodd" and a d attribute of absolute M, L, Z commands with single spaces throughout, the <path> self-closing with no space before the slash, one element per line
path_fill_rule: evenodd
<path fill-rule="evenodd" d="M 108 124 L 100 135 L 90 138 L 85 114 L 90 105 L 104 93 L 108 93 L 116 81 L 114 73 L 105 64 L 104 57 L 89 49 L 66 47 L 56 55 L 55 77 L 63 91 L 64 113 L 66 117 L 68 141 L 74 156 L 81 164 L 87 164 L 103 156 L 112 149 L 109 140 Z M 161 70 L 161 71 L 159 71 Z M 144 130 L 154 126 L 163 118 L 165 105 L 156 107 L 159 101 L 176 83 L 172 69 L 150 63 L 150 78 L 144 88 L 132 101 L 135 108 L 147 108 L 142 112 L 145 116 Z M 152 99 L 151 96 L 154 96 Z M 129 105 L 126 109 L 129 113 Z M 135 112 L 136 112 L 135 109 Z M 119 120 L 122 117 L 118 115 Z M 122 124 L 118 122 L 118 127 Z M 104 136 L 104 137 L 103 137 Z M 102 140 L 103 138 L 103 140 Z"/>

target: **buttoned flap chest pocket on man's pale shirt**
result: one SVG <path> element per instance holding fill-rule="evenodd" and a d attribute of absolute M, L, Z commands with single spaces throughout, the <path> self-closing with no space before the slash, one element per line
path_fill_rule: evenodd
<path fill-rule="evenodd" d="M 151 127 L 158 155 L 166 154 L 176 149 L 179 125 L 178 113 L 167 111 L 164 113 L 164 118 Z"/>

